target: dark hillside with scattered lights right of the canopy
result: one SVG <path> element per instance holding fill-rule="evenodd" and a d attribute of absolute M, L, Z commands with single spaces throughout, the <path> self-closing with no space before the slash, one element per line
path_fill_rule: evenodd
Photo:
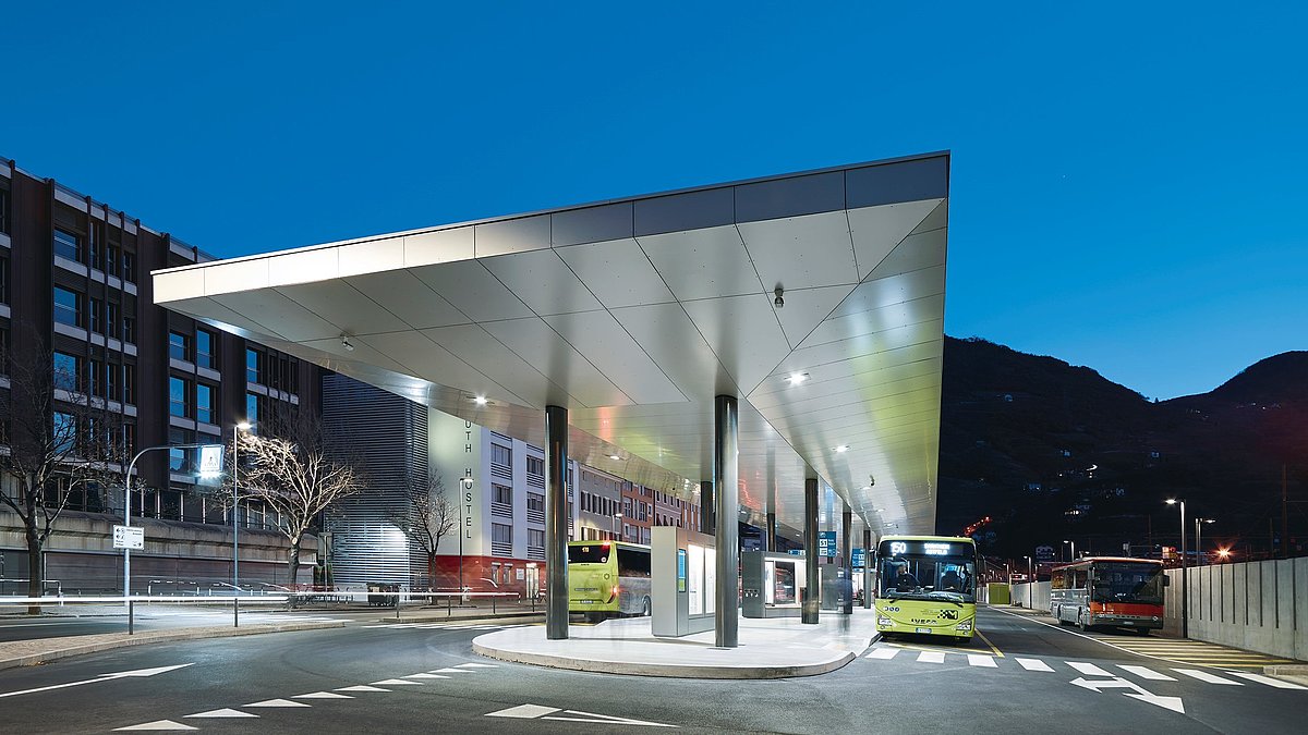
<path fill-rule="evenodd" d="M 1301 549 L 1308 352 L 1150 403 L 1088 368 L 946 337 L 937 530 L 956 534 L 989 515 L 978 531 L 988 553 L 1020 557 L 1063 540 L 1101 553 L 1176 545 L 1179 513 L 1163 501 L 1184 497 L 1192 519 L 1216 519 L 1203 527 L 1209 551 L 1266 556 L 1281 534 L 1282 466 Z"/>

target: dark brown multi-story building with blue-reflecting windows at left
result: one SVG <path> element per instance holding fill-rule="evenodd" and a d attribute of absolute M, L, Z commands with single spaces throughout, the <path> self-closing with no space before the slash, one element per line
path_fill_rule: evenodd
<path fill-rule="evenodd" d="M 318 366 L 154 306 L 150 271 L 209 259 L 122 211 L 0 158 L 0 353 L 9 365 L 50 360 L 51 420 L 71 415 L 60 405 L 72 391 L 89 396 L 86 404 L 101 416 L 85 430 L 114 432 L 123 464 L 145 447 L 230 443 L 239 421 L 271 426 L 290 413 L 318 409 Z M 0 390 L 10 390 L 12 382 L 12 375 L 0 375 Z M 196 485 L 194 456 L 183 450 L 148 453 L 136 466 L 133 484 L 141 492 L 133 488 L 132 513 L 157 522 L 148 531 L 157 544 L 133 555 L 144 579 L 178 574 L 174 547 L 187 558 L 188 577 L 230 574 L 230 545 L 221 548 L 230 531 L 216 528 L 230 527 L 230 517 L 212 500 L 212 489 Z M 103 519 L 97 514 L 122 518 L 119 490 L 67 488 L 65 481 L 56 480 L 48 492 L 59 498 L 67 493 L 68 523 L 94 526 L 98 534 Z M 0 483 L 12 492 L 12 479 Z M 273 519 L 255 506 L 243 509 L 239 521 L 247 531 L 243 578 L 279 578 L 283 560 Z M 184 543 L 170 545 L 170 539 L 186 535 L 178 531 L 181 522 L 200 526 L 186 531 L 191 538 Z M 0 547 L 24 547 L 14 523 L 0 507 Z M 215 526 L 212 534 L 205 524 Z M 120 583 L 112 555 L 72 551 L 105 551 L 98 540 L 63 545 L 56 534 L 46 556 L 47 577 L 76 577 L 81 586 L 105 589 Z M 186 553 L 188 548 L 203 551 Z M 311 543 L 307 551 L 313 560 Z M 7 572 L 26 574 L 14 564 Z M 102 575 L 109 581 L 95 585 Z"/>

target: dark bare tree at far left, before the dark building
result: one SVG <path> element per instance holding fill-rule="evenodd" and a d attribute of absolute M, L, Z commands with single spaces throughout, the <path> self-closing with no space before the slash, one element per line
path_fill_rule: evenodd
<path fill-rule="evenodd" d="M 39 336 L 31 341 L 33 349 L 21 356 L 0 354 L 9 377 L 9 390 L 0 391 L 0 477 L 13 477 L 13 492 L 0 489 L 0 504 L 22 523 L 27 596 L 39 598 L 42 551 L 68 506 L 69 490 L 119 483 L 127 447 L 122 422 L 89 390 L 94 381 L 82 368 L 85 361 L 56 360 Z M 39 613 L 41 607 L 29 612 Z"/>

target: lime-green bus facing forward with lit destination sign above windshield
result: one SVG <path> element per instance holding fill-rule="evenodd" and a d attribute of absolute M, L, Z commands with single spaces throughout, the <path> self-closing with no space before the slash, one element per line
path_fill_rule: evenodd
<path fill-rule="evenodd" d="M 976 541 L 884 536 L 876 547 L 876 629 L 967 643 L 976 633 Z"/>

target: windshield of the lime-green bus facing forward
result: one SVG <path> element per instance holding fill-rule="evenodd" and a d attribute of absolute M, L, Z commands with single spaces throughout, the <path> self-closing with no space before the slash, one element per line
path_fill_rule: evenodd
<path fill-rule="evenodd" d="M 878 594 L 883 598 L 976 599 L 976 557 L 971 545 L 888 541 L 878 551 Z"/>

